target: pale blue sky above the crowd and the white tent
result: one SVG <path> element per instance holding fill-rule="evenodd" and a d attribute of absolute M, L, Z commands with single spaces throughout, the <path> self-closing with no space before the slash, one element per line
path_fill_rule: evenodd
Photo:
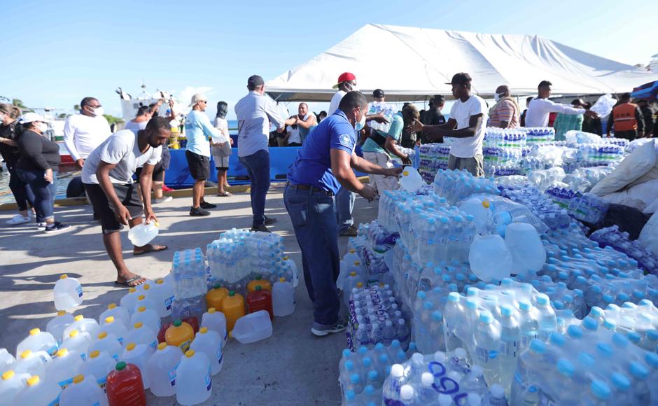
<path fill-rule="evenodd" d="M 177 96 L 204 90 L 232 118 L 248 76 L 279 76 L 369 22 L 539 34 L 628 64 L 658 53 L 656 1 L 22 0 L 0 13 L 1 96 L 68 110 L 94 96 L 115 115 L 114 90 L 139 94 L 144 80 Z"/>

